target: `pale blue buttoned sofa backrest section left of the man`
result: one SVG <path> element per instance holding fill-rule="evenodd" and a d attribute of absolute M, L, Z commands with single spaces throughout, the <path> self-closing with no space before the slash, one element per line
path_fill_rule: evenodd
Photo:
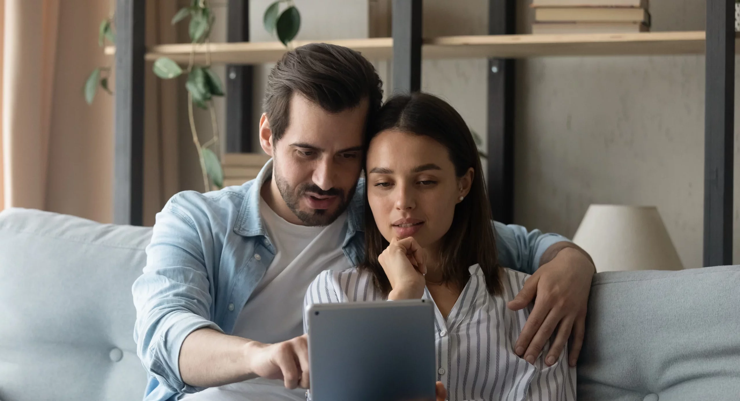
<path fill-rule="evenodd" d="M 150 231 L 0 213 L 0 400 L 141 400 L 131 285 Z"/>

